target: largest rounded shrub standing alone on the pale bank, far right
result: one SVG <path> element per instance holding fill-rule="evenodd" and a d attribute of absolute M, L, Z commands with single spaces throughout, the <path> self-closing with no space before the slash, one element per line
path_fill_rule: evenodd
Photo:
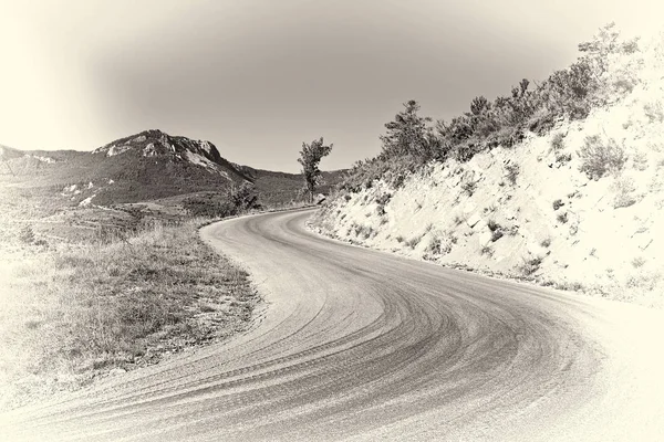
<path fill-rule="evenodd" d="M 595 180 L 602 178 L 608 171 L 621 170 L 626 161 L 624 149 L 613 138 L 603 143 L 598 135 L 585 137 L 579 157 L 581 158 L 579 170 Z"/>

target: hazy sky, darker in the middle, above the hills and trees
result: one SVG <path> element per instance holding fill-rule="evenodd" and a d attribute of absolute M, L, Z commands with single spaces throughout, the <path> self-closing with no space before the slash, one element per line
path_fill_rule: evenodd
<path fill-rule="evenodd" d="M 295 172 L 380 152 L 416 99 L 452 118 L 577 56 L 615 21 L 657 27 L 658 0 L 0 0 L 0 144 L 92 150 L 148 128 Z"/>

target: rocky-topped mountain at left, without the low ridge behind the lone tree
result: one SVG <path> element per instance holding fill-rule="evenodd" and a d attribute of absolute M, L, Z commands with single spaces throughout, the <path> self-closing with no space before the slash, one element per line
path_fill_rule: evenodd
<path fill-rule="evenodd" d="M 92 152 L 3 149 L 13 186 L 58 189 L 74 203 L 127 203 L 251 181 L 209 141 L 145 130 Z"/>

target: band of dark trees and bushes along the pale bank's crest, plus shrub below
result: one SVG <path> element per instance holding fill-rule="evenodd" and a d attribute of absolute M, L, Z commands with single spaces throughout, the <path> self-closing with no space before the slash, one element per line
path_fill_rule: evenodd
<path fill-rule="evenodd" d="M 579 50 L 582 55 L 568 69 L 554 72 L 539 84 L 523 78 L 510 94 L 492 102 L 475 97 L 469 112 L 450 120 L 434 123 L 432 117 L 418 114 L 417 102 L 405 103 L 394 120 L 385 124 L 381 154 L 357 161 L 340 189 L 357 192 L 371 188 L 378 179 L 398 188 L 406 176 L 425 169 L 432 161 L 466 162 L 498 146 L 513 147 L 528 133 L 544 135 L 560 120 L 584 119 L 593 108 L 624 97 L 637 84 L 629 69 L 613 69 L 622 57 L 639 52 L 639 41 L 621 40 L 614 23 L 602 28 L 591 41 L 579 44 Z M 637 63 L 635 56 L 633 63 Z M 552 145 L 554 149 L 562 146 L 560 135 Z M 581 155 L 583 171 L 593 176 L 602 175 L 605 168 L 620 167 L 623 161 L 619 147 L 600 146 L 596 139 L 589 140 Z M 508 173 L 513 185 L 518 170 Z"/>

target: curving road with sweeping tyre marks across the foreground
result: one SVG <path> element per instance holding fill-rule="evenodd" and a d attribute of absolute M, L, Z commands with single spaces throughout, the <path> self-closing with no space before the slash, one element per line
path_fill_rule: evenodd
<path fill-rule="evenodd" d="M 0 417 L 0 440 L 664 440 L 661 313 L 307 231 L 205 228 L 267 307 L 204 350 Z"/>

